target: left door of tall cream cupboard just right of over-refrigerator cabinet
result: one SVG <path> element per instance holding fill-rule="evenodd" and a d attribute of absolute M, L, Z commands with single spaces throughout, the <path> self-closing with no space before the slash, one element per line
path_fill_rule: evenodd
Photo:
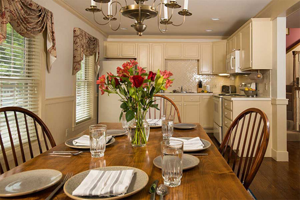
<path fill-rule="evenodd" d="M 137 62 L 140 67 L 147 67 L 150 69 L 150 44 L 149 43 L 138 43 L 137 44 Z"/>

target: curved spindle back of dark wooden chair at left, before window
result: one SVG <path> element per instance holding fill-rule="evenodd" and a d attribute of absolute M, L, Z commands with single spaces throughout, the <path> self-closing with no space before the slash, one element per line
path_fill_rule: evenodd
<path fill-rule="evenodd" d="M 40 139 L 41 136 L 44 139 L 46 150 L 49 150 L 47 139 L 49 140 L 51 147 L 56 146 L 48 127 L 41 120 L 41 118 L 39 118 L 38 115 L 36 115 L 35 113 L 20 107 L 4 107 L 4 108 L 0 108 L 0 117 L 5 118 L 5 124 L 6 124 L 6 129 L 4 129 L 3 126 L 1 125 L 2 133 L 0 131 L 0 145 L 1 145 L 1 152 L 3 156 L 4 164 L 7 171 L 10 169 L 9 161 L 6 155 L 7 150 L 11 149 L 11 152 L 13 154 L 14 164 L 15 166 L 18 166 L 15 147 L 20 148 L 22 162 L 24 163 L 26 162 L 26 159 L 25 159 L 23 143 L 28 144 L 31 158 L 34 157 L 33 150 L 32 150 L 32 139 L 36 138 L 40 153 L 43 153 L 41 139 Z M 37 124 L 39 124 L 40 127 L 38 127 Z M 31 130 L 34 131 L 35 133 L 30 133 Z M 38 133 L 38 130 L 41 130 L 41 134 Z M 10 144 L 9 149 L 4 146 L 5 143 Z M 0 174 L 2 174 L 3 172 L 4 170 L 0 163 Z"/>

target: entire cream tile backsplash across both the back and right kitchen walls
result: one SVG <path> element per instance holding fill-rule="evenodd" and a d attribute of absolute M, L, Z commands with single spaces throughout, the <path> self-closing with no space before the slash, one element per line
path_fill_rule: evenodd
<path fill-rule="evenodd" d="M 219 94 L 222 90 L 222 85 L 235 85 L 237 93 L 239 93 L 238 86 L 241 82 L 255 82 L 250 80 L 247 75 L 235 75 L 235 79 L 231 80 L 227 76 L 218 75 L 198 75 L 198 60 L 166 60 L 165 69 L 171 71 L 174 83 L 169 88 L 170 91 L 179 89 L 191 89 L 192 92 L 197 92 L 198 81 L 202 80 L 202 88 L 205 90 L 206 85 L 210 86 L 210 91 Z M 256 81 L 258 84 L 260 97 L 271 97 L 271 74 L 270 70 L 261 70 L 263 75 L 262 80 Z M 267 88 L 267 89 L 266 89 Z"/>

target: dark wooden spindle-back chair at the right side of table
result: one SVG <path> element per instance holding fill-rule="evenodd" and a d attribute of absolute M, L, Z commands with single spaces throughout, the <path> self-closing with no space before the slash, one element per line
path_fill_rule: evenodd
<path fill-rule="evenodd" d="M 247 121 L 247 126 L 244 126 L 245 121 Z M 257 121 L 258 124 L 256 125 Z M 251 130 L 250 135 L 249 135 L 249 130 Z M 239 134 L 237 134 L 237 132 L 239 132 Z M 268 146 L 269 134 L 270 134 L 270 124 L 265 113 L 259 109 L 250 108 L 243 111 L 235 118 L 235 120 L 230 125 L 225 135 L 225 138 L 223 139 L 220 145 L 219 148 L 220 153 L 225 159 L 227 159 L 227 163 L 232 167 L 232 170 L 236 173 L 237 177 L 241 180 L 246 190 L 248 189 L 251 182 L 253 181 L 253 178 L 255 177 L 259 169 L 259 166 L 262 163 L 262 160 L 264 158 Z M 242 137 L 243 139 L 241 139 Z M 231 141 L 231 145 L 229 149 L 227 149 L 230 141 Z M 234 146 L 235 144 L 237 145 Z M 233 152 L 233 150 L 235 150 L 235 152 Z M 237 159 L 239 151 L 241 151 L 241 157 Z M 228 155 L 228 157 L 226 157 L 226 155 Z M 245 158 L 243 158 L 243 156 Z M 238 163 L 238 168 L 236 170 L 235 164 L 237 163 Z M 241 171 L 242 173 L 240 177 Z"/>

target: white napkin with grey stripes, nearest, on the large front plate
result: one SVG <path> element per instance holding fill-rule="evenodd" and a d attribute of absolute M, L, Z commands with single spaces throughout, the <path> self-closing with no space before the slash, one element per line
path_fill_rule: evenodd
<path fill-rule="evenodd" d="M 132 169 L 121 171 L 91 170 L 73 191 L 75 196 L 120 196 L 124 195 L 134 175 Z"/>

